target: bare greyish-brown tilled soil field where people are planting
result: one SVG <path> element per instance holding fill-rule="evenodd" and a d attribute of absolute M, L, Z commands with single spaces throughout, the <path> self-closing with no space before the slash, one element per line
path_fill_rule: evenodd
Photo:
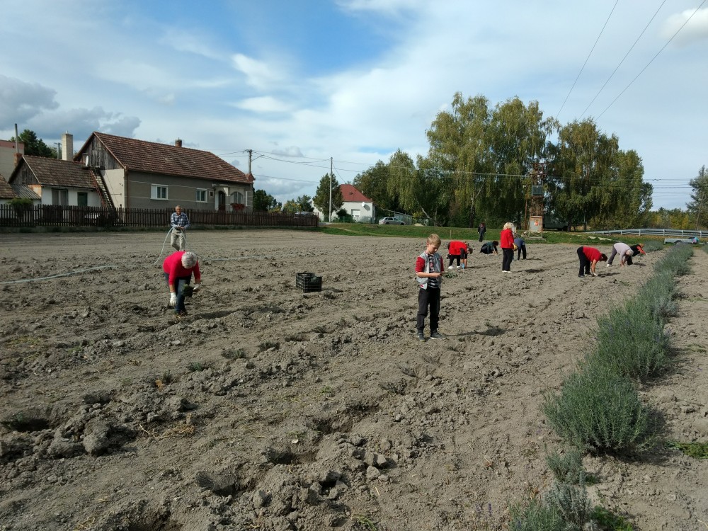
<path fill-rule="evenodd" d="M 563 447 L 544 392 L 668 252 L 580 279 L 576 246 L 528 241 L 503 275 L 474 242 L 442 285 L 447 338 L 420 343 L 422 239 L 192 231 L 202 290 L 183 319 L 163 240 L 0 234 L 0 530 L 507 529 Z M 691 262 L 675 365 L 640 389 L 681 442 L 708 436 L 708 254 Z M 708 529 L 708 462 L 584 464 L 635 530 Z"/>

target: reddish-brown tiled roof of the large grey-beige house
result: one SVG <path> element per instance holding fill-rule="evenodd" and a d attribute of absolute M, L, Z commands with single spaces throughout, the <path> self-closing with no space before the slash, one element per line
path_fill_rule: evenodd
<path fill-rule="evenodd" d="M 145 142 L 144 140 L 106 135 L 101 132 L 93 132 L 92 136 L 96 137 L 127 171 L 202 178 L 228 183 L 249 184 L 253 182 L 252 177 L 249 179 L 249 176 L 246 176 L 243 171 L 224 159 L 200 149 Z M 90 140 L 91 138 L 86 140 L 86 144 L 76 156 L 77 159 Z"/>

